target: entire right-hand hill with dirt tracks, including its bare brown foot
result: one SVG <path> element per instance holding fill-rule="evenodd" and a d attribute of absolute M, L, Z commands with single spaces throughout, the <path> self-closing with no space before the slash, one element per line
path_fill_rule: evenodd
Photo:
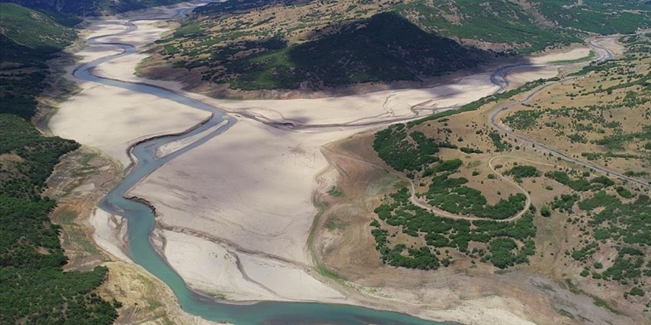
<path fill-rule="evenodd" d="M 538 324 L 648 324 L 651 34 L 620 42 L 616 59 L 329 145 L 346 195 L 322 196 L 324 265 L 542 296 Z"/>

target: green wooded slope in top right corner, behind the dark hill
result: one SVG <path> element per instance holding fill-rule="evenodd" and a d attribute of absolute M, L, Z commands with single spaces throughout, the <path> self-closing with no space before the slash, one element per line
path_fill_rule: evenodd
<path fill-rule="evenodd" d="M 578 42 L 588 32 L 651 26 L 651 4 L 640 0 L 413 0 L 390 10 L 428 31 L 519 54 Z"/>

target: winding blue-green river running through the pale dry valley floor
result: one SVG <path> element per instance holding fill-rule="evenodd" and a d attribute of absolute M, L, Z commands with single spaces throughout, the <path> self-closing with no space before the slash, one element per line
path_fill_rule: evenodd
<path fill-rule="evenodd" d="M 186 10 L 180 10 L 176 16 L 184 14 Z M 132 32 L 137 26 L 132 21 L 125 23 L 127 29 L 118 34 Z M 115 35 L 115 34 L 113 34 Z M 191 99 L 181 94 L 177 94 L 164 88 L 142 83 L 129 83 L 115 79 L 98 77 L 92 72 L 99 64 L 110 60 L 131 55 L 136 49 L 129 44 L 102 43 L 98 36 L 90 38 L 87 42 L 89 46 L 113 45 L 121 47 L 122 53 L 109 55 L 101 59 L 93 60 L 77 66 L 72 74 L 74 77 L 100 83 L 107 86 L 124 88 L 133 92 L 143 92 L 146 94 L 158 96 L 159 98 L 169 99 L 193 107 L 195 109 L 206 110 L 212 113 L 212 117 L 201 125 L 180 135 L 158 136 L 143 140 L 130 148 L 130 153 L 134 164 L 122 182 L 113 188 L 107 196 L 99 203 L 99 207 L 105 211 L 120 216 L 128 220 L 128 253 L 130 257 L 143 266 L 148 272 L 165 282 L 172 289 L 178 302 L 184 311 L 191 315 L 197 315 L 208 320 L 220 322 L 230 322 L 233 324 L 409 324 L 409 325 L 432 325 L 432 324 L 452 324 L 442 322 L 432 322 L 422 320 L 421 318 L 409 315 L 395 313 L 390 311 L 379 311 L 364 307 L 343 304 L 320 304 L 311 302 L 254 302 L 251 304 L 229 304 L 225 301 L 215 300 L 199 292 L 192 291 L 187 287 L 185 281 L 167 264 L 165 259 L 152 246 L 150 234 L 155 224 L 155 216 L 150 207 L 137 201 L 128 200 L 124 196 L 126 192 L 136 183 L 147 177 L 175 157 L 186 153 L 187 151 L 201 146 L 204 142 L 217 136 L 233 125 L 236 120 L 225 116 L 223 112 L 202 101 Z M 224 123 L 225 122 L 225 123 Z M 217 127 L 218 125 L 221 125 Z M 201 139 L 178 149 L 164 157 L 156 156 L 156 149 L 164 144 L 189 138 L 197 133 L 214 129 L 214 131 L 203 136 Z M 227 172 L 227 171 L 225 171 Z"/>

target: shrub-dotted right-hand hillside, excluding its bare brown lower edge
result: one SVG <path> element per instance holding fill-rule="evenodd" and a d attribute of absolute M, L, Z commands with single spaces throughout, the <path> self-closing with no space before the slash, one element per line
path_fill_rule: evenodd
<path fill-rule="evenodd" d="M 381 261 L 551 274 L 648 320 L 651 33 L 619 41 L 616 59 L 375 133 L 378 157 L 406 180 L 374 209 Z M 523 137 L 487 123 L 503 107 L 501 122 Z"/>

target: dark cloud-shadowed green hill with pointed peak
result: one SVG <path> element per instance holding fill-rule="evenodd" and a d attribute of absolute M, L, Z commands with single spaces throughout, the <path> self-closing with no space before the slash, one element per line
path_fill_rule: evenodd
<path fill-rule="evenodd" d="M 311 88 L 352 83 L 418 80 L 422 75 L 476 66 L 490 56 L 428 34 L 406 19 L 381 13 L 344 27 L 337 34 L 303 44 L 266 47 L 256 55 L 229 60 L 228 51 L 215 52 L 225 73 L 236 73 L 230 85 L 246 90 Z M 216 71 L 215 71 L 216 73 Z M 215 79 L 219 80 L 219 79 Z"/>

